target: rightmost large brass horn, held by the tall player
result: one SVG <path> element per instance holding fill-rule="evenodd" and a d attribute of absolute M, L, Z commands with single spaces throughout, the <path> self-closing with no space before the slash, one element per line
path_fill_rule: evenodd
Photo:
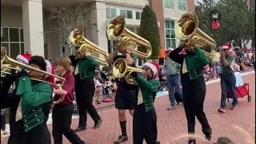
<path fill-rule="evenodd" d="M 198 16 L 194 13 L 183 14 L 180 20 L 178 20 L 178 26 L 176 27 L 177 33 L 182 32 L 182 40 L 186 40 L 186 45 L 194 44 L 194 46 L 200 46 L 202 51 L 209 58 L 214 58 L 216 54 L 216 42 L 213 38 L 210 38 L 202 30 L 198 28 Z M 175 31 L 175 32 L 176 32 Z"/>

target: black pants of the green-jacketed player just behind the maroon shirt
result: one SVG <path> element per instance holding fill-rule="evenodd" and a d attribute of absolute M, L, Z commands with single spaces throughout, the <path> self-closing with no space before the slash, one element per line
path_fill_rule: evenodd
<path fill-rule="evenodd" d="M 86 111 L 90 114 L 91 118 L 93 118 L 94 122 L 98 122 L 98 120 L 100 120 L 98 112 L 92 103 L 94 98 L 94 91 L 94 78 L 87 78 L 84 82 L 76 80 L 75 96 L 79 111 L 78 126 L 86 126 Z"/>

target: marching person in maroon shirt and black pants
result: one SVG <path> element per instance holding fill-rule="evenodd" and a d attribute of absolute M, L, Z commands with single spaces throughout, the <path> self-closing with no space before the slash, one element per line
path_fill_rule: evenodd
<path fill-rule="evenodd" d="M 54 88 L 54 100 L 58 100 L 59 96 L 65 96 L 63 102 L 54 106 L 53 109 L 53 137 L 54 144 L 62 144 L 62 134 L 75 144 L 84 144 L 74 130 L 70 129 L 73 100 L 74 100 L 74 76 L 72 74 L 72 65 L 70 58 L 62 57 L 57 61 L 58 73 L 62 78 L 66 78 L 66 82 L 61 89 Z"/>

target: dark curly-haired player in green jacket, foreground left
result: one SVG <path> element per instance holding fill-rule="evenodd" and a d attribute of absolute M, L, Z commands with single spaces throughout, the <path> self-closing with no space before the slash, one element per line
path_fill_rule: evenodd
<path fill-rule="evenodd" d="M 46 62 L 40 56 L 30 58 L 29 65 L 39 69 L 46 70 Z M 50 144 L 50 132 L 46 126 L 48 114 L 50 113 L 50 104 L 52 103 L 52 90 L 46 82 L 30 80 L 35 78 L 44 80 L 45 74 L 31 71 L 29 74 L 21 70 L 17 74 L 18 82 L 13 94 L 8 95 L 10 105 L 18 106 L 21 100 L 22 118 L 13 117 L 13 123 L 10 123 L 11 135 L 14 132 L 14 138 L 8 143 L 13 144 Z M 17 110 L 17 108 L 16 108 Z M 11 128 L 11 126 L 14 126 Z M 16 132 L 15 132 L 16 131 Z"/>

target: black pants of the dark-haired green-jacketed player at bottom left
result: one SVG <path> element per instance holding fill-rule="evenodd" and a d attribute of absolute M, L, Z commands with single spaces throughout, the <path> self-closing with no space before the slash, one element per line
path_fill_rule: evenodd
<path fill-rule="evenodd" d="M 51 144 L 50 132 L 47 128 L 46 122 L 25 132 L 24 138 L 24 144 Z"/>

